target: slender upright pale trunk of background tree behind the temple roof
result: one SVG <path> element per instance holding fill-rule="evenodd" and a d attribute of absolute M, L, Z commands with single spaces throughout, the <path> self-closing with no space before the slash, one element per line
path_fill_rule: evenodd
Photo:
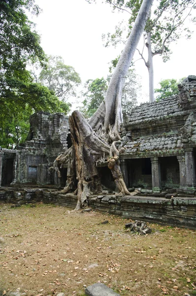
<path fill-rule="evenodd" d="M 146 66 L 148 68 L 148 75 L 149 75 L 149 101 L 153 103 L 155 101 L 154 95 L 154 67 L 153 67 L 153 53 L 151 48 L 151 33 L 147 34 L 147 42 L 146 46 L 148 48 L 148 61 Z"/>

